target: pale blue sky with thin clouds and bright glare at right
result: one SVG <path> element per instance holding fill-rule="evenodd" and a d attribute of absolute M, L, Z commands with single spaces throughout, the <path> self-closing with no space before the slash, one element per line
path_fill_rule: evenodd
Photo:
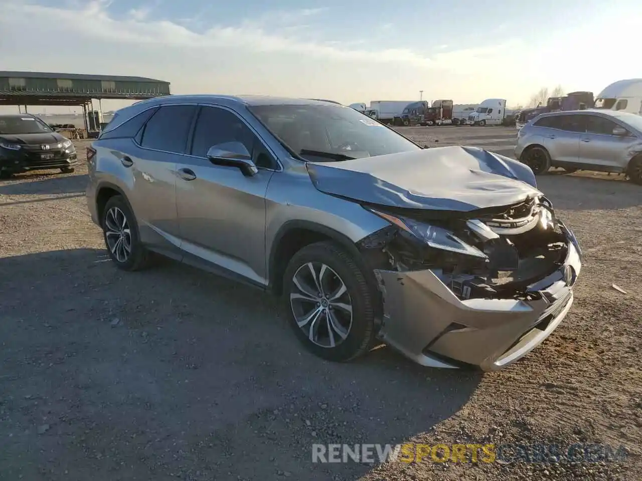
<path fill-rule="evenodd" d="M 2 70 L 142 76 L 173 94 L 349 104 L 423 90 L 517 106 L 541 87 L 598 94 L 642 76 L 639 0 L 0 0 L 0 12 Z"/>

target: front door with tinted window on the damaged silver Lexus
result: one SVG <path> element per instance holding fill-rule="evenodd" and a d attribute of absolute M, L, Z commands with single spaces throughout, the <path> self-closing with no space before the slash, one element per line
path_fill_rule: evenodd
<path fill-rule="evenodd" d="M 259 172 L 214 165 L 206 154 L 216 144 L 242 142 Z M 272 156 L 231 110 L 202 106 L 190 155 L 177 164 L 177 212 L 186 262 L 266 284 L 265 193 L 274 174 Z"/>

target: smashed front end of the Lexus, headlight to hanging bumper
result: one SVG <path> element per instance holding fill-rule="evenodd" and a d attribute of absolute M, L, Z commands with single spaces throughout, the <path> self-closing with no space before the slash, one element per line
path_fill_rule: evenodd
<path fill-rule="evenodd" d="M 358 246 L 383 297 L 379 336 L 419 364 L 501 369 L 571 307 L 580 248 L 543 196 L 470 212 L 363 207 L 390 222 Z"/>

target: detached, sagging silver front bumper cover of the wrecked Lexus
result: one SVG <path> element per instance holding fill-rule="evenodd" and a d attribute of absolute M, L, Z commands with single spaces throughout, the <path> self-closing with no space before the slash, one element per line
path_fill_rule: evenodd
<path fill-rule="evenodd" d="M 567 238 L 566 259 L 528 286 L 535 300 L 460 300 L 430 270 L 376 270 L 384 301 L 379 336 L 423 366 L 496 371 L 521 359 L 553 332 L 573 303 L 582 255 L 573 233 L 559 224 Z"/>

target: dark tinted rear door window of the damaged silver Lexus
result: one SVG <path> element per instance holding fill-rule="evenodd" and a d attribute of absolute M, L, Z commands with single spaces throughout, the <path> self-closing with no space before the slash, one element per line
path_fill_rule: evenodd
<path fill-rule="evenodd" d="M 143 129 L 141 146 L 166 152 L 185 153 L 195 105 L 165 105 Z"/>

